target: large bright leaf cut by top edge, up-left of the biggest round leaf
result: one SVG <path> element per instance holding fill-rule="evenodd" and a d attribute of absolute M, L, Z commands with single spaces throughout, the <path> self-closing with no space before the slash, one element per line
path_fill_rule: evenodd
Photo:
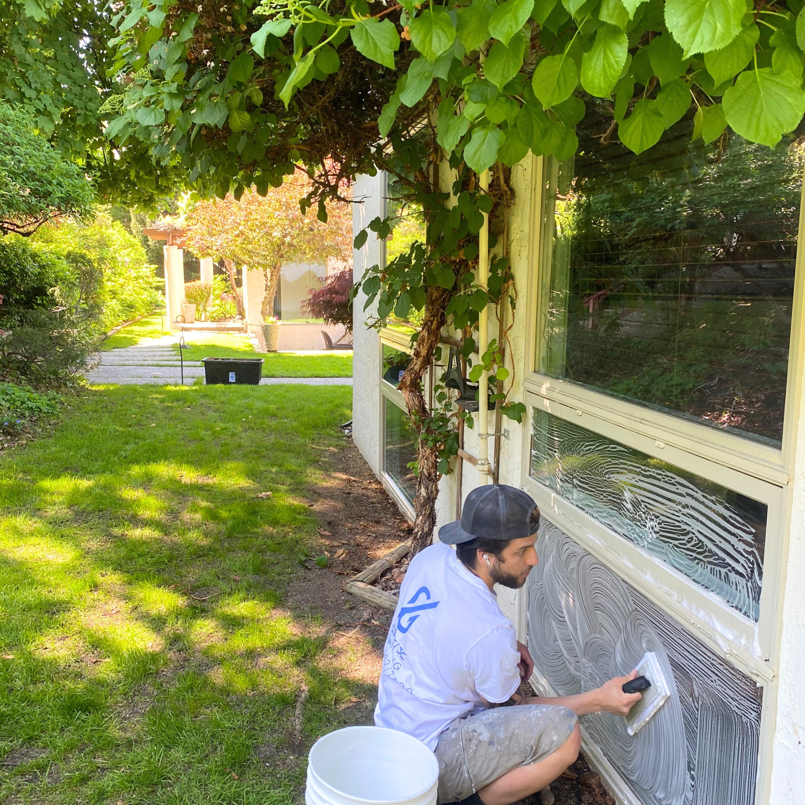
<path fill-rule="evenodd" d="M 729 45 L 745 13 L 745 0 L 666 0 L 665 24 L 687 58 Z"/>

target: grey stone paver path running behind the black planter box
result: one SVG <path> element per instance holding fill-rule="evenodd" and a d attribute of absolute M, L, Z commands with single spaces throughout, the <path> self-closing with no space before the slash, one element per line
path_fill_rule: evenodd
<path fill-rule="evenodd" d="M 187 341 L 187 335 L 185 335 Z M 141 344 L 93 356 L 93 368 L 86 373 L 91 383 L 117 383 L 121 385 L 179 386 L 182 369 L 179 357 L 178 336 L 152 338 Z M 184 361 L 184 385 L 192 386 L 196 378 L 204 377 L 201 361 Z M 352 386 L 352 378 L 262 378 L 261 386 L 282 383 L 299 383 L 303 386 Z"/>

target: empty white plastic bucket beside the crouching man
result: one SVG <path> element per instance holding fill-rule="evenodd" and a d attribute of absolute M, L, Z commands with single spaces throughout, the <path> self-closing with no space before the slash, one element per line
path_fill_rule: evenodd
<path fill-rule="evenodd" d="M 436 755 L 416 738 L 382 727 L 346 727 L 320 737 L 308 756 L 307 805 L 435 805 Z"/>

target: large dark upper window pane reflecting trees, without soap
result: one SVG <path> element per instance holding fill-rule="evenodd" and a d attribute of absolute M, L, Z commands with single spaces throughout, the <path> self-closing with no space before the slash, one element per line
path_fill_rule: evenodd
<path fill-rule="evenodd" d="M 705 146 L 686 118 L 635 156 L 587 104 L 547 163 L 540 369 L 779 444 L 803 147 Z"/>

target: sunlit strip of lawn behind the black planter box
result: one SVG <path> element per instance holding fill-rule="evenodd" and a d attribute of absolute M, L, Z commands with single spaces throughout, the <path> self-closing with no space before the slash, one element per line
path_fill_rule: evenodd
<path fill-rule="evenodd" d="M 234 332 L 191 336 L 186 361 L 205 357 L 262 357 L 264 378 L 351 378 L 353 353 L 339 349 L 324 353 L 258 353 L 247 336 Z M 201 340 L 203 338 L 203 341 Z"/>

